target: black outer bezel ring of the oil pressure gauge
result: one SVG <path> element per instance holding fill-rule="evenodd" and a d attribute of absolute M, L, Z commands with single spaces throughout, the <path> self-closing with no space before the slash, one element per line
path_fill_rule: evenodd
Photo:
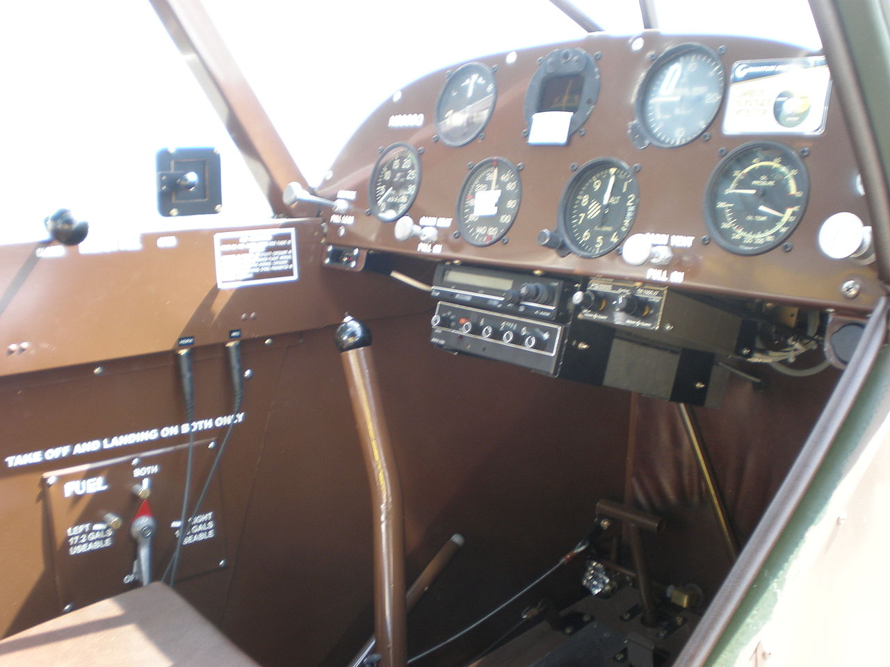
<path fill-rule="evenodd" d="M 717 184 L 724 177 L 724 170 L 726 170 L 732 162 L 739 157 L 742 153 L 746 153 L 750 150 L 756 149 L 769 149 L 769 150 L 778 150 L 782 154 L 782 164 L 784 165 L 792 165 L 791 168 L 797 169 L 797 175 L 795 176 L 795 180 L 797 181 L 797 187 L 801 192 L 804 193 L 804 197 L 802 197 L 802 201 L 800 204 L 800 213 L 797 214 L 797 220 L 789 227 L 789 229 L 781 234 L 780 237 L 776 237 L 773 241 L 771 241 L 768 245 L 757 245 L 750 246 L 747 245 L 738 245 L 733 243 L 732 241 L 724 238 L 720 232 L 720 222 L 715 220 L 715 189 Z M 710 177 L 708 178 L 708 186 L 705 189 L 705 199 L 703 202 L 704 206 L 704 214 L 705 214 L 705 226 L 708 229 L 708 234 L 711 239 L 716 241 L 717 245 L 720 245 L 725 251 L 733 254 L 739 255 L 756 255 L 768 253 L 771 250 L 779 247 L 782 243 L 785 242 L 788 237 L 790 237 L 794 231 L 797 229 L 797 226 L 800 224 L 800 221 L 804 217 L 804 213 L 806 213 L 806 205 L 809 202 L 810 198 L 810 176 L 806 171 L 806 165 L 804 165 L 804 161 L 801 159 L 799 155 L 797 155 L 797 151 L 795 149 L 786 146 L 779 141 L 748 141 L 748 143 L 744 143 L 741 146 L 732 149 L 726 156 L 717 163 L 716 167 L 714 167 L 714 171 L 711 172 Z"/>

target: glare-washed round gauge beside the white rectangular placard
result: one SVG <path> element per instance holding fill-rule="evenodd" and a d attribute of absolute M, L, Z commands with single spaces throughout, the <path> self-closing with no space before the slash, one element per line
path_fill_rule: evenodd
<path fill-rule="evenodd" d="M 714 120 L 724 96 L 724 66 L 704 44 L 679 44 L 652 64 L 636 97 L 636 118 L 648 140 L 683 146 Z"/>

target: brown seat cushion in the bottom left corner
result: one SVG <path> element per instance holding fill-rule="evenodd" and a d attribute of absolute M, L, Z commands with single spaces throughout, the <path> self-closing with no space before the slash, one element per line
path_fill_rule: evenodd
<path fill-rule="evenodd" d="M 127 591 L 0 641 L 4 667 L 257 667 L 163 583 Z"/>

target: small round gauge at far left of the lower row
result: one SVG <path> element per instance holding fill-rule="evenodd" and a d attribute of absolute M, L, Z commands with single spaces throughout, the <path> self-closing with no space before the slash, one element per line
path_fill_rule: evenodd
<path fill-rule="evenodd" d="M 371 172 L 371 213 L 392 222 L 408 212 L 420 187 L 420 155 L 407 143 L 394 143 L 385 149 Z"/>

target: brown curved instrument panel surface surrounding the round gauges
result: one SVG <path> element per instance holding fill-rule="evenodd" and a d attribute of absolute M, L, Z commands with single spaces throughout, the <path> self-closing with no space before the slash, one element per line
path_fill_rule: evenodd
<path fill-rule="evenodd" d="M 658 272 L 652 271 L 651 265 L 632 266 L 616 250 L 588 259 L 576 254 L 561 256 L 538 245 L 538 233 L 556 227 L 560 197 L 575 170 L 592 159 L 611 157 L 631 165 L 639 184 L 637 213 L 629 234 L 693 239 L 690 247 L 674 247 L 673 259 L 661 267 L 661 275 L 670 277 L 667 284 L 836 309 L 864 311 L 873 307 L 881 293 L 874 265 L 829 259 L 817 244 L 822 222 L 834 213 L 851 212 L 870 224 L 865 197 L 856 186 L 858 167 L 849 130 L 833 95 L 824 131 L 813 136 L 726 135 L 725 95 L 706 133 L 684 146 L 637 149 L 628 134 L 643 76 L 661 53 L 677 44 L 705 44 L 719 52 L 727 90 L 737 61 L 813 54 L 789 44 L 740 37 L 664 36 L 646 31 L 642 40 L 642 48 L 635 48 L 640 43 L 634 44 L 634 38 L 591 35 L 578 42 L 515 52 L 515 56 L 501 53 L 478 59 L 495 71 L 497 101 L 484 131 L 459 147 L 440 141 L 433 122 L 440 92 L 453 70 L 440 70 L 406 85 L 368 117 L 318 189 L 320 196 L 332 199 L 344 191 L 347 196 L 354 193 L 347 215 L 322 213 L 330 223 L 326 240 L 335 245 L 433 260 L 657 282 L 659 279 L 653 276 Z M 523 107 L 538 63 L 554 49 L 573 48 L 589 53 L 599 68 L 595 107 L 567 145 L 529 145 Z M 412 124 L 416 126 L 404 126 Z M 708 179 L 721 158 L 749 141 L 778 141 L 797 151 L 809 174 L 810 195 L 805 213 L 786 243 L 765 253 L 741 255 L 702 241 L 708 235 L 703 201 Z M 409 143 L 419 152 L 421 176 L 408 215 L 415 224 L 431 219 L 439 222 L 433 242 L 418 237 L 397 240 L 395 224 L 380 221 L 371 213 L 368 190 L 372 170 L 383 149 L 397 142 Z M 457 233 L 457 199 L 469 169 L 489 157 L 522 165 L 522 201 L 506 236 L 493 245 L 477 246 Z M 861 286 L 852 298 L 841 289 L 848 281 Z"/>

